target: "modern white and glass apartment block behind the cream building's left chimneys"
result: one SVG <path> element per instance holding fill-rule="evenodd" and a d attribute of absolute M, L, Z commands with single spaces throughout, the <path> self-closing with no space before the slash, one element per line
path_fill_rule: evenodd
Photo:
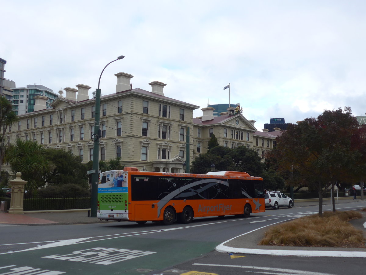
<path fill-rule="evenodd" d="M 18 115 L 34 111 L 34 104 L 36 104 L 34 97 L 37 95 L 47 97 L 46 108 L 50 108 L 51 102 L 58 97 L 52 89 L 37 84 L 27 85 L 27 87 L 14 87 L 12 88 L 12 95 L 13 111 Z"/>

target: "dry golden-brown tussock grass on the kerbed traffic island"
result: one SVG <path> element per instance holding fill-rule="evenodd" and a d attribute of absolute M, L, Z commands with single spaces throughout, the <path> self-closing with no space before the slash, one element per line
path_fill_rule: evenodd
<path fill-rule="evenodd" d="M 360 219 L 357 211 L 324 212 L 270 227 L 258 245 L 365 247 L 362 230 L 348 223 Z"/>

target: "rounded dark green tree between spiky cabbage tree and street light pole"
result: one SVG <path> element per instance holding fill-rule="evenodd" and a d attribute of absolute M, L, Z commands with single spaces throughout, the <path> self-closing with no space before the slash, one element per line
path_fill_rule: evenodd
<path fill-rule="evenodd" d="M 50 161 L 52 169 L 44 173 L 43 178 L 49 185 L 76 184 L 86 188 L 86 166 L 79 156 L 62 149 L 46 149 L 45 158 Z"/>

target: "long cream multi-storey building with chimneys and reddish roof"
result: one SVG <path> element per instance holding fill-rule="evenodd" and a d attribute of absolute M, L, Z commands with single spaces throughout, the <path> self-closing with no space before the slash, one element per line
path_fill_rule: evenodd
<path fill-rule="evenodd" d="M 101 96 L 99 159 L 121 157 L 122 164 L 139 170 L 183 172 L 186 161 L 186 133 L 190 128 L 190 162 L 193 153 L 206 153 L 215 134 L 220 145 L 246 146 L 259 155 L 272 150 L 278 132 L 259 132 L 254 120 L 234 114 L 234 107 L 220 117 L 213 108 L 202 108 L 202 117 L 193 118 L 199 108 L 164 95 L 166 84 L 153 81 L 151 91 L 132 89 L 131 74 L 117 73 L 116 92 Z M 89 98 L 88 85 L 64 88 L 46 109 L 46 97 L 36 96 L 34 112 L 19 115 L 19 122 L 8 132 L 16 138 L 36 140 L 45 147 L 60 148 L 79 155 L 82 162 L 93 159 L 95 100 Z M 6 166 L 4 167 L 6 168 Z"/>

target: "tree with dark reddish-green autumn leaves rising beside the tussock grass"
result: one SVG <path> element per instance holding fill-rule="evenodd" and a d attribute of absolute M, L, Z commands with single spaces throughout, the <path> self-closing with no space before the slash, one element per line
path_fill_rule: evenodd
<path fill-rule="evenodd" d="M 306 118 L 298 125 L 290 124 L 277 137 L 272 156 L 278 169 L 298 177 L 319 194 L 319 215 L 322 216 L 322 198 L 336 180 L 344 180 L 355 173 L 357 161 L 362 158 L 352 139 L 358 133 L 358 122 L 346 107 L 324 111 L 315 118 Z M 365 143 L 363 143 L 365 144 Z M 334 207 L 333 207 L 334 208 Z"/>

